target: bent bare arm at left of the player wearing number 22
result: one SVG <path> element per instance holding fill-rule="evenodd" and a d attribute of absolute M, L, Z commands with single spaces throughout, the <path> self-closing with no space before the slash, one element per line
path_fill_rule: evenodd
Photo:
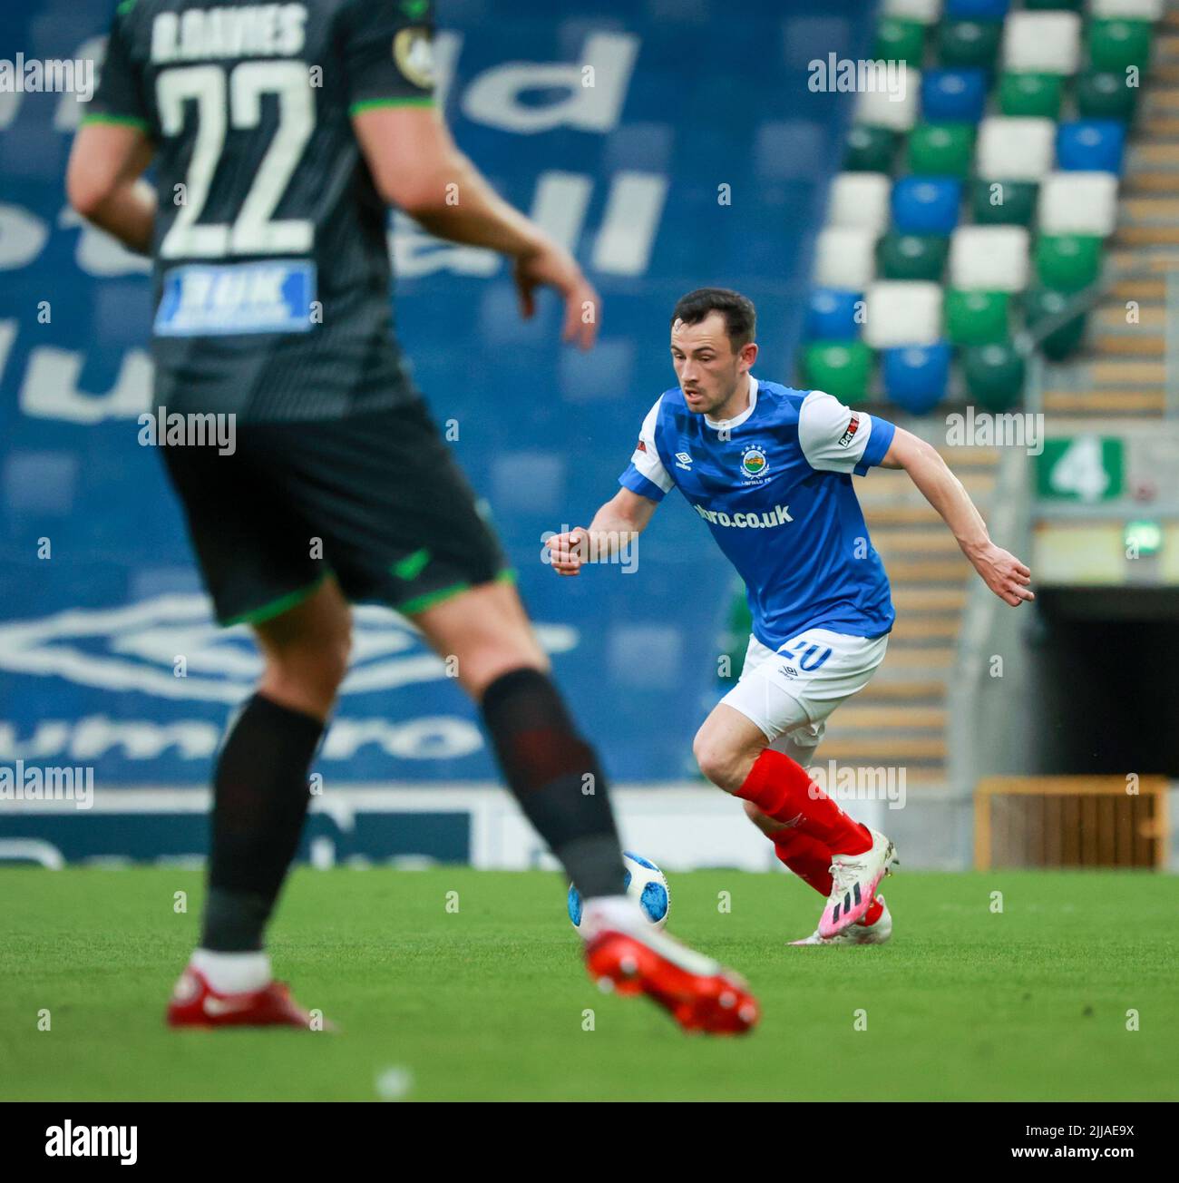
<path fill-rule="evenodd" d="M 151 141 L 137 127 L 84 123 L 65 176 L 70 205 L 136 254 L 151 253 L 156 196 L 140 176 L 154 154 Z"/>

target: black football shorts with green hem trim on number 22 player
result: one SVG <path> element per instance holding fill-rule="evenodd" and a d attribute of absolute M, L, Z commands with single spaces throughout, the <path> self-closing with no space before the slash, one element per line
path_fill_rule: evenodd
<path fill-rule="evenodd" d="M 421 400 L 238 424 L 234 442 L 162 448 L 222 626 L 270 620 L 329 575 L 406 615 L 513 577 Z"/>

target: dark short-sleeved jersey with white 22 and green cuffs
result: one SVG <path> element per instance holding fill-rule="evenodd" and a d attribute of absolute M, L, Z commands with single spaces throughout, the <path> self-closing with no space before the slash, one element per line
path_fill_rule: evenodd
<path fill-rule="evenodd" d="M 156 406 L 338 419 L 417 396 L 352 131 L 430 104 L 433 0 L 123 0 L 86 121 L 155 144 Z"/>

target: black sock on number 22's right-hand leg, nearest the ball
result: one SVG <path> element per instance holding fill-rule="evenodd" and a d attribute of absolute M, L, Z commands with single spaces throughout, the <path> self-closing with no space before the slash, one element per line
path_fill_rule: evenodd
<path fill-rule="evenodd" d="M 626 868 L 605 778 L 552 679 L 512 670 L 484 692 L 484 722 L 524 815 L 584 899 L 621 896 Z"/>

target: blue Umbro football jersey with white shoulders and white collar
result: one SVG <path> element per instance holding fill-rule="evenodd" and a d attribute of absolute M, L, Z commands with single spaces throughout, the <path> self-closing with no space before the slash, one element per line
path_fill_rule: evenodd
<path fill-rule="evenodd" d="M 708 524 L 749 593 L 753 635 L 772 649 L 808 628 L 881 636 L 893 627 L 888 576 L 851 487 L 896 428 L 822 390 L 750 375 L 728 420 L 665 390 L 618 483 L 661 500 L 675 485 Z"/>

